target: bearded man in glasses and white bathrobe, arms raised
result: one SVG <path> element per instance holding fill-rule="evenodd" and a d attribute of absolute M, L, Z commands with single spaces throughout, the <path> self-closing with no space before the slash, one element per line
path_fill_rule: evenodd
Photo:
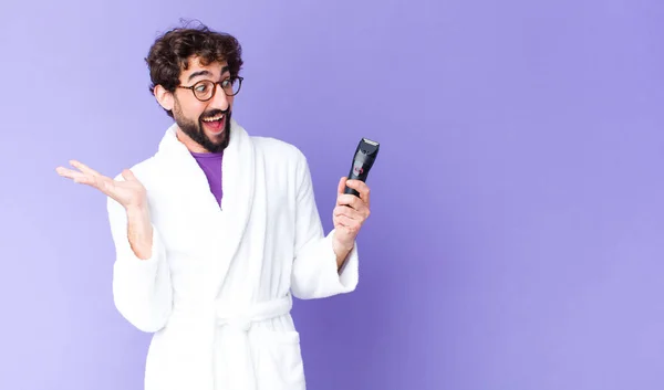
<path fill-rule="evenodd" d="M 231 118 L 242 83 L 231 35 L 175 29 L 146 62 L 175 119 L 156 154 L 115 179 L 79 161 L 56 169 L 108 197 L 114 302 L 154 333 L 145 390 L 302 390 L 292 296 L 355 288 L 369 188 L 341 178 L 325 235 L 305 157 Z"/>

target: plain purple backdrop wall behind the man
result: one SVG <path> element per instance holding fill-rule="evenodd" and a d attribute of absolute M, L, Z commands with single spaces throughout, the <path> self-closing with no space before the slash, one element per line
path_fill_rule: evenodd
<path fill-rule="evenodd" d="M 185 3 L 187 3 L 185 6 Z M 154 152 L 143 62 L 179 18 L 235 33 L 235 117 L 309 157 L 331 229 L 382 144 L 351 295 L 297 302 L 310 388 L 664 387 L 664 3 L 7 1 L 0 389 L 142 389 L 105 199 L 55 175 Z"/>

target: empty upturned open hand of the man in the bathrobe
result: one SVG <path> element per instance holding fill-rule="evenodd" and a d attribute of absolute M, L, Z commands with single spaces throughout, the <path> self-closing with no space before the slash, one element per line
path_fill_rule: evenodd
<path fill-rule="evenodd" d="M 74 182 L 96 188 L 106 196 L 115 199 L 125 209 L 142 208 L 145 205 L 145 187 L 143 187 L 131 170 L 125 169 L 122 172 L 122 177 L 125 179 L 122 181 L 103 176 L 80 161 L 72 160 L 70 164 L 79 170 L 58 167 L 55 171 L 62 177 L 72 179 Z"/>

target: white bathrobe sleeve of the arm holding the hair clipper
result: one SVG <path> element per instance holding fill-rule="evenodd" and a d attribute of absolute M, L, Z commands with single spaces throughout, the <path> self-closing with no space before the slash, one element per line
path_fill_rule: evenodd
<path fill-rule="evenodd" d="M 298 160 L 294 261 L 291 289 L 301 299 L 323 298 L 355 289 L 359 281 L 357 243 L 342 268 L 336 270 L 332 249 L 334 229 L 324 235 L 317 209 L 311 172 L 304 155 Z M 331 213 L 330 213 L 331 214 Z"/>

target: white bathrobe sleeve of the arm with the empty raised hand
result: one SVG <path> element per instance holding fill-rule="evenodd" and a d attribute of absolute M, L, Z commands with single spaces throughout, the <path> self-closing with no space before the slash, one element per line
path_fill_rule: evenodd
<path fill-rule="evenodd" d="M 113 265 L 115 307 L 139 330 L 157 331 L 170 316 L 173 297 L 166 250 L 159 232 L 153 225 L 152 257 L 141 260 L 129 245 L 125 209 L 108 198 L 107 210 L 116 252 Z"/>

